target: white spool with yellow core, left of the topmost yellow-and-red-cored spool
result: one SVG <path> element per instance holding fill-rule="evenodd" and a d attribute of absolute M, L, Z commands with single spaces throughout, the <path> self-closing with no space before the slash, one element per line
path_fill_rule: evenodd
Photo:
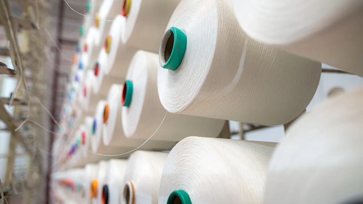
<path fill-rule="evenodd" d="M 120 13 L 122 5 L 123 1 L 120 0 L 103 1 L 96 15 L 96 18 L 99 18 L 99 20 L 95 19 L 96 22 L 98 21 L 98 26 L 96 26 L 98 31 L 98 36 L 95 39 L 96 45 L 102 46 L 102 42 L 105 41 L 107 33 L 109 32 L 112 23 L 112 21 L 106 21 L 106 20 L 114 19 Z"/>

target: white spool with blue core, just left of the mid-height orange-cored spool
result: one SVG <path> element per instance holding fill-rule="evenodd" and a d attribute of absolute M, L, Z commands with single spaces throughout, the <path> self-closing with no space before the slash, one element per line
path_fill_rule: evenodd
<path fill-rule="evenodd" d="M 98 154 L 114 155 L 119 153 L 125 153 L 133 150 L 134 148 L 121 148 L 121 147 L 110 147 L 105 146 L 102 142 L 102 125 L 103 125 L 103 114 L 106 101 L 99 101 L 95 110 L 94 121 L 92 126 L 91 136 L 91 150 Z M 127 158 L 129 154 L 122 155 L 120 158 Z"/>

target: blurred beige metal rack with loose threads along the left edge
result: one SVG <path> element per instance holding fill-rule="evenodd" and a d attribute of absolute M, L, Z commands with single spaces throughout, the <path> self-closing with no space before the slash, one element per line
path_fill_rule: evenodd
<path fill-rule="evenodd" d="M 20 88 L 12 95 L 14 113 L 5 109 L 9 98 L 0 98 L 0 119 L 6 125 L 1 131 L 11 133 L 9 150 L 0 157 L 7 158 L 4 178 L 1 178 L 3 195 L 10 202 L 41 203 L 46 189 L 46 162 L 49 133 L 43 128 L 26 122 L 28 118 L 49 129 L 46 111 L 42 104 L 49 102 L 46 88 L 48 75 L 47 41 L 39 24 L 44 25 L 48 3 L 44 0 L 0 0 L 0 26 L 6 31 L 8 47 L 0 48 L 0 56 L 11 57 L 15 70 L 0 63 L 0 74 L 16 78 Z M 20 69 L 20 66 L 23 70 Z M 24 73 L 27 74 L 24 74 Z M 28 84 L 25 91 L 24 81 Z M 1 195 L 1 192 L 0 192 Z M 1 203 L 1 201 L 0 201 Z"/>

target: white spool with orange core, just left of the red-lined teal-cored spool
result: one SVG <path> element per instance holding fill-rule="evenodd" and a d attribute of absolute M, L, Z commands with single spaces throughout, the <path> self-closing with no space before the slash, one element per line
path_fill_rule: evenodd
<path fill-rule="evenodd" d="M 103 112 L 102 141 L 105 146 L 131 147 L 136 148 L 145 142 L 146 139 L 126 138 L 122 130 L 121 115 L 121 94 L 123 85 L 114 84 L 111 86 L 107 103 Z M 156 130 L 156 127 L 155 127 Z M 154 130 L 154 131 L 155 131 Z M 152 133 L 151 133 L 152 134 Z M 151 134 L 148 136 L 150 137 Z M 147 135 L 146 135 L 147 136 Z M 149 140 L 140 150 L 169 150 L 175 143 Z"/>

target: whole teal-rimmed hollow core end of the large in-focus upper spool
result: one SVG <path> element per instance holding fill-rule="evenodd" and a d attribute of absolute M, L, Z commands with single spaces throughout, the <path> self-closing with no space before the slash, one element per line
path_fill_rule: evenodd
<path fill-rule="evenodd" d="M 187 36 L 176 27 L 164 33 L 159 48 L 159 64 L 162 68 L 176 70 L 183 61 L 187 49 Z"/>

